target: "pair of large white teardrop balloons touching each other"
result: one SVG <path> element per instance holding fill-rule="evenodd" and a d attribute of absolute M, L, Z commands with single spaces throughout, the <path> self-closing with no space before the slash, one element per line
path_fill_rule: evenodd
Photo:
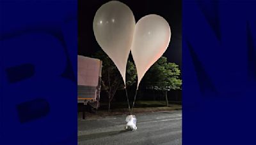
<path fill-rule="evenodd" d="M 102 50 L 113 60 L 125 83 L 127 59 L 131 51 L 138 84 L 147 70 L 165 52 L 171 38 L 170 26 L 159 15 L 146 15 L 137 24 L 131 9 L 119 1 L 109 1 L 97 10 L 93 31 Z"/>

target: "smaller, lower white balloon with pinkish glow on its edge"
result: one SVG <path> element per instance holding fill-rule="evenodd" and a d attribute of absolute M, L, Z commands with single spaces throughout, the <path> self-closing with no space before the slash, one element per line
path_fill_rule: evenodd
<path fill-rule="evenodd" d="M 167 49 L 170 38 L 170 26 L 159 15 L 147 15 L 137 22 L 131 47 L 138 74 L 137 88 L 144 74 Z"/>

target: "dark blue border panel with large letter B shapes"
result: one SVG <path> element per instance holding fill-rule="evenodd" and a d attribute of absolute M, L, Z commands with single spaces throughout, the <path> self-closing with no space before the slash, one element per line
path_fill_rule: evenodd
<path fill-rule="evenodd" d="M 0 144 L 77 144 L 77 1 L 0 6 Z"/>

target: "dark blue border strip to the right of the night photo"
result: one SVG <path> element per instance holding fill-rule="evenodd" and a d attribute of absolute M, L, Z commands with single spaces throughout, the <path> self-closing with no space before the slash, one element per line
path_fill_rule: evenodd
<path fill-rule="evenodd" d="M 256 144 L 256 1 L 182 2 L 182 143 Z"/>

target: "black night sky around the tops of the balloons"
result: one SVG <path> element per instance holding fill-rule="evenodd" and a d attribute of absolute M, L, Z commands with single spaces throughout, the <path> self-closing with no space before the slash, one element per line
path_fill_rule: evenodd
<path fill-rule="evenodd" d="M 78 25 L 78 35 L 79 35 L 79 48 L 78 54 L 84 56 L 90 56 L 93 53 L 100 50 L 95 36 L 93 34 L 93 18 L 96 11 L 102 6 L 102 4 L 107 3 L 104 0 L 93 0 L 85 1 L 79 0 L 78 2 L 78 15 L 79 15 L 79 25 Z M 135 0 L 121 0 L 120 2 L 129 6 L 134 14 L 136 22 L 140 20 L 141 17 L 149 14 L 160 15 L 165 18 L 169 23 L 172 31 L 170 44 L 164 53 L 164 57 L 168 58 L 169 62 L 175 62 L 181 67 L 181 45 L 182 45 L 182 25 L 181 25 L 181 0 L 158 0 L 158 1 L 135 1 Z"/>

